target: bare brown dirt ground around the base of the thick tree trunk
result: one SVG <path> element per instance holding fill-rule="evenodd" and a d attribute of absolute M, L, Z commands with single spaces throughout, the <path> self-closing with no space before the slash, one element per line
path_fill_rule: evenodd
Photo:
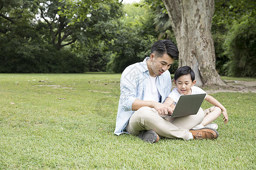
<path fill-rule="evenodd" d="M 226 83 L 226 86 L 208 85 L 201 88 L 208 94 L 217 92 L 256 93 L 256 81 L 224 80 L 224 82 Z M 172 87 L 175 88 L 176 85 L 172 83 Z"/>

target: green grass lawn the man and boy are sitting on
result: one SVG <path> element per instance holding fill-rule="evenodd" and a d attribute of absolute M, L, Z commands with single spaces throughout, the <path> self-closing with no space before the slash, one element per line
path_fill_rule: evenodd
<path fill-rule="evenodd" d="M 0 169 L 255 169 L 255 94 L 212 94 L 216 140 L 113 134 L 121 74 L 0 74 Z M 203 103 L 203 108 L 210 107 Z"/>

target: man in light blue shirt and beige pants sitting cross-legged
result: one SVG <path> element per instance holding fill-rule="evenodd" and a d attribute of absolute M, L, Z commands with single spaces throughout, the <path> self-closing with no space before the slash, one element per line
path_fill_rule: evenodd
<path fill-rule="evenodd" d="M 149 143 L 158 142 L 159 136 L 185 140 L 218 137 L 217 131 L 212 129 L 189 131 L 203 121 L 203 110 L 195 115 L 172 118 L 171 121 L 159 116 L 173 112 L 163 102 L 172 86 L 168 69 L 178 58 L 179 50 L 174 42 L 160 40 L 152 45 L 150 57 L 126 67 L 120 80 L 115 134 L 138 135 Z M 186 122 L 190 122 L 189 126 Z"/>

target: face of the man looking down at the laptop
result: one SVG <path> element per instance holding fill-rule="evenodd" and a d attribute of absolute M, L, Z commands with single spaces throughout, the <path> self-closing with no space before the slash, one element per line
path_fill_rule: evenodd
<path fill-rule="evenodd" d="M 172 63 L 174 62 L 174 58 L 168 56 L 168 54 L 163 54 L 163 57 L 156 57 L 155 54 L 150 55 L 151 59 L 151 67 L 148 69 L 150 71 L 150 75 L 162 75 L 164 71 L 170 69 Z"/>

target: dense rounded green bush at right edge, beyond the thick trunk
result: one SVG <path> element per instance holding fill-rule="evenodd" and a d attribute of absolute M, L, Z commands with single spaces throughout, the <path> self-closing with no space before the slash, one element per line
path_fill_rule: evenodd
<path fill-rule="evenodd" d="M 225 41 L 225 54 L 230 61 L 226 67 L 229 76 L 256 77 L 256 23 L 253 16 L 234 20 Z"/>

